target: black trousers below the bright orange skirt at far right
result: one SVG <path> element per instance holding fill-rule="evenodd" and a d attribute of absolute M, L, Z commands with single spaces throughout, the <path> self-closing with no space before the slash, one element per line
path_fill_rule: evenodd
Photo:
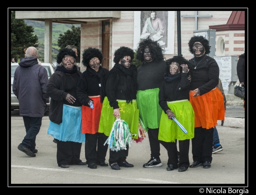
<path fill-rule="evenodd" d="M 195 128 L 195 136 L 191 139 L 193 161 L 197 161 L 199 163 L 204 163 L 205 161 L 212 161 L 213 131 L 214 128 Z"/>

